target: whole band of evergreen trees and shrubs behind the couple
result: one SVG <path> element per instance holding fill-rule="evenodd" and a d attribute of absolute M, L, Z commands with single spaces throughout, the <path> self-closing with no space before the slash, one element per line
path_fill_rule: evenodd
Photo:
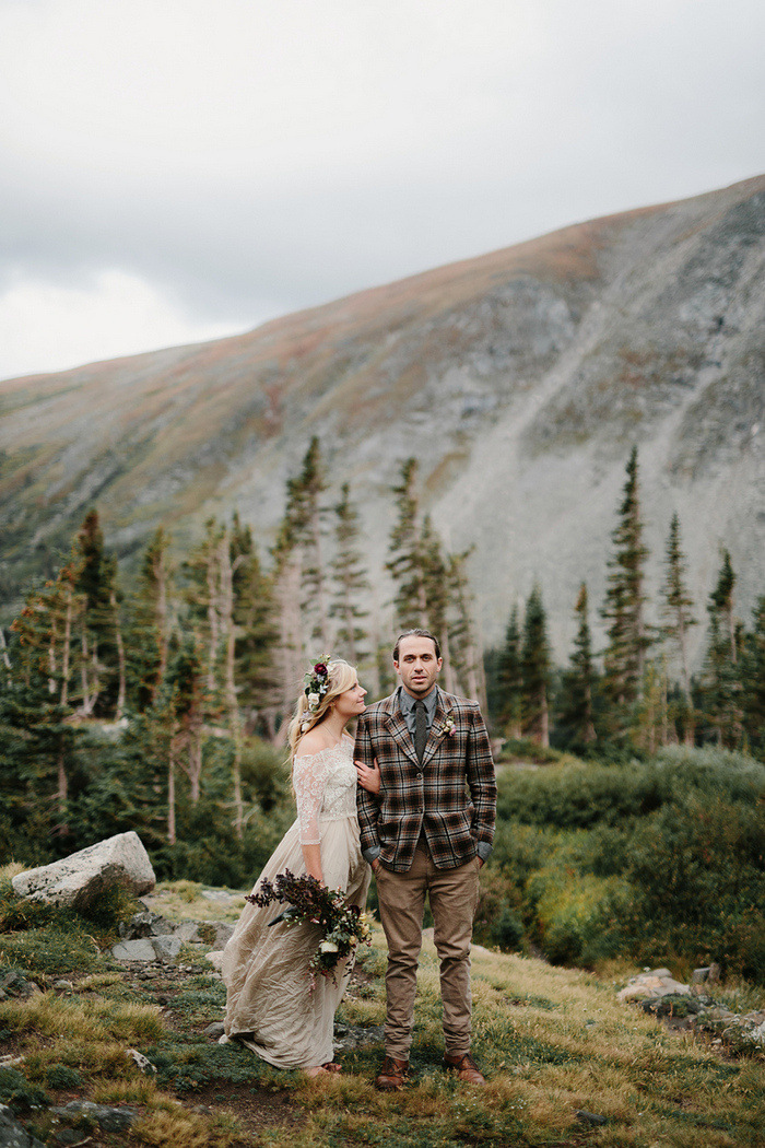
<path fill-rule="evenodd" d="M 348 658 L 374 700 L 395 684 L 393 631 L 424 626 L 442 685 L 481 701 L 497 745 L 477 938 L 585 965 L 718 960 L 765 982 L 765 592 L 742 619 L 724 550 L 693 602 L 676 514 L 649 596 L 633 450 L 607 591 L 591 603 L 581 583 L 568 664 L 540 584 L 482 650 L 470 551 L 450 553 L 422 513 L 414 459 L 391 501 L 389 603 L 317 439 L 267 551 L 236 514 L 182 554 L 161 528 L 126 580 L 91 509 L 0 630 L 0 864 L 135 830 L 158 877 L 249 886 L 294 817 L 284 737 L 306 664 Z"/>

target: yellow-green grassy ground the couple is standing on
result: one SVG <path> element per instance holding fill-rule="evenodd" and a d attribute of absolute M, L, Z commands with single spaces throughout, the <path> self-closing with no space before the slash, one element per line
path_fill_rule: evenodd
<path fill-rule="evenodd" d="M 45 1142 L 56 1142 L 61 1132 L 48 1106 L 75 1097 L 126 1104 L 139 1115 L 119 1135 L 93 1127 L 84 1133 L 80 1122 L 77 1142 L 87 1135 L 96 1146 L 756 1148 L 763 1142 L 762 1056 L 733 1058 L 719 1044 L 671 1032 L 617 1003 L 627 969 L 599 978 L 477 949 L 474 1052 L 489 1077 L 482 1091 L 456 1085 L 439 1068 L 437 963 L 426 944 L 414 1079 L 403 1094 L 381 1095 L 372 1087 L 378 1040 L 343 1053 L 345 1071 L 336 1079 L 278 1072 L 247 1050 L 204 1035 L 206 1025 L 220 1019 L 225 991 L 200 949 L 187 947 L 157 976 L 141 978 L 111 960 L 103 923 L 97 931 L 93 922 L 70 921 L 62 933 L 55 914 L 46 922 L 37 910 L 34 920 L 23 920 L 7 897 L 7 871 L 5 877 L 0 978 L 16 970 L 42 991 L 0 1001 L 2 1050 L 14 1061 L 6 1058 L 0 1068 L 0 1102 L 10 1102 Z M 190 883 L 165 885 L 155 907 L 200 920 L 210 906 L 200 892 Z M 358 1038 L 381 1024 L 383 971 L 377 930 L 338 1016 L 345 1032 Z M 765 993 L 741 985 L 721 995 L 739 1008 L 765 1006 Z M 143 1076 L 126 1048 L 146 1054 L 156 1075 Z"/>

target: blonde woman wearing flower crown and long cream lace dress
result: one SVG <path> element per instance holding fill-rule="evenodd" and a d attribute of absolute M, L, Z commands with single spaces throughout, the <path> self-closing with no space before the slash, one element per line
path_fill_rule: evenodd
<path fill-rule="evenodd" d="M 364 908 L 369 867 L 361 858 L 356 813 L 357 768 L 353 739 L 345 727 L 364 712 L 366 690 L 352 666 L 341 659 L 317 662 L 306 674 L 289 727 L 292 788 L 297 820 L 266 863 L 273 881 L 289 869 L 342 890 Z M 380 771 L 359 767 L 365 789 L 380 789 Z M 317 977 L 311 992 L 309 961 L 318 937 L 306 924 L 268 923 L 283 906 L 248 902 L 226 945 L 221 974 L 227 988 L 225 1037 L 236 1038 L 276 1068 L 303 1069 L 309 1076 L 339 1071 L 333 1062 L 335 1011 L 343 999 L 352 962 L 338 965 L 335 985 Z"/>

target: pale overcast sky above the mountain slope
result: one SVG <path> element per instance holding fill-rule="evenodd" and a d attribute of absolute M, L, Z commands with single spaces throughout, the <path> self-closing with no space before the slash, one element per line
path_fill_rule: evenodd
<path fill-rule="evenodd" d="M 763 0 L 0 0 L 0 379 L 765 170 Z"/>

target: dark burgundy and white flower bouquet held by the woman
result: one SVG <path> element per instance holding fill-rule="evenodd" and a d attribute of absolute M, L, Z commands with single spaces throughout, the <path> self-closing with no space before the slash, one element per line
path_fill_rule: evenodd
<path fill-rule="evenodd" d="M 271 921 L 275 925 L 312 924 L 321 929 L 319 948 L 309 962 L 311 991 L 315 987 L 317 972 L 335 979 L 339 961 L 354 953 L 360 943 L 372 944 L 369 918 L 358 905 L 351 905 L 336 889 L 327 889 L 315 877 L 296 877 L 287 869 L 276 874 L 273 882 L 263 881 L 257 893 L 247 898 L 252 905 L 264 907 L 274 901 L 288 901 L 283 913 Z"/>

